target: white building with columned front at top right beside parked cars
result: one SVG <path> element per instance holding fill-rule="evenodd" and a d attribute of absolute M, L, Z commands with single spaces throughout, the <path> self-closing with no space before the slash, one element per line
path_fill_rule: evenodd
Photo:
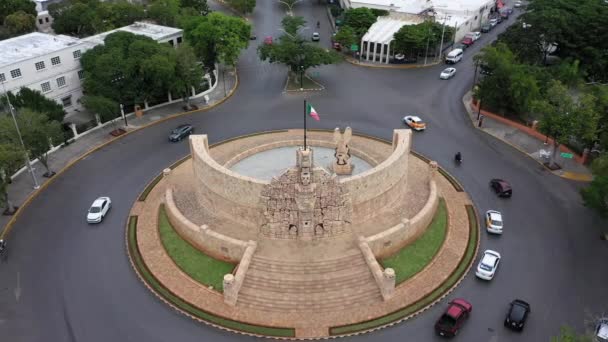
<path fill-rule="evenodd" d="M 343 8 L 368 7 L 389 11 L 379 17 L 361 40 L 367 60 L 388 63 L 393 35 L 405 25 L 433 20 L 455 29 L 454 41 L 475 31 L 488 17 L 495 0 L 340 0 Z"/>

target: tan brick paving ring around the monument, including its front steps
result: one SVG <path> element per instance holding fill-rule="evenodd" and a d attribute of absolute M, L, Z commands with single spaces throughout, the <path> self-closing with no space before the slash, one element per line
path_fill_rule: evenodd
<path fill-rule="evenodd" d="M 178 169 L 182 167 L 188 169 L 187 163 Z M 440 196 L 446 200 L 449 217 L 444 245 L 420 273 L 397 286 L 395 295 L 387 302 L 382 301 L 377 286 L 370 286 L 375 283 L 369 270 L 360 263 L 362 256 L 354 248 L 354 235 L 343 234 L 339 238 L 325 239 L 317 248 L 304 253 L 311 258 L 316 257 L 314 264 L 293 257 L 301 254 L 293 252 L 294 248 L 298 248 L 297 245 L 294 246 L 296 242 L 289 242 L 291 245 L 287 249 L 277 249 L 273 245 L 276 244 L 274 241 L 260 241 L 247 276 L 251 275 L 252 278 L 246 277 L 241 290 L 243 297 L 239 297 L 235 307 L 225 304 L 219 292 L 208 289 L 184 274 L 162 246 L 156 213 L 162 202 L 167 179 L 163 179 L 150 192 L 145 202 L 134 206 L 133 213 L 145 213 L 138 220 L 138 245 L 144 262 L 155 277 L 171 292 L 196 307 L 250 324 L 293 327 L 298 338 L 323 337 L 328 335 L 330 327 L 381 317 L 415 303 L 440 286 L 458 267 L 469 237 L 465 204 L 470 204 L 471 201 L 465 193 L 457 192 L 440 174 L 437 174 L 436 180 Z M 319 258 L 322 255 L 317 254 L 319 251 L 326 251 L 326 258 Z M 287 256 L 292 256 L 292 259 L 284 259 Z M 351 277 L 349 273 L 355 273 L 359 277 Z M 357 279 L 361 289 L 355 292 L 353 290 L 357 288 Z M 315 287 L 315 284 L 321 286 Z M 342 297 L 332 290 L 341 285 L 344 285 Z M 283 300 L 276 300 L 277 296 Z M 319 306 L 328 298 L 330 300 L 324 306 Z M 290 304 L 298 310 L 294 311 Z"/>

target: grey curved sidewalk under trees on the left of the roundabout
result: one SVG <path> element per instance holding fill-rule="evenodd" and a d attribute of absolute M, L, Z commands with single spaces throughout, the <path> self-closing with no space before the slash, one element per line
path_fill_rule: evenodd
<path fill-rule="evenodd" d="M 224 83 L 222 77 L 218 77 L 217 85 L 215 88 L 208 94 L 209 103 L 205 104 L 204 97 L 200 97 L 197 99 L 192 99 L 190 101 L 191 104 L 198 106 L 198 110 L 192 111 L 191 113 L 196 113 L 200 111 L 205 111 L 216 105 L 222 103 L 226 98 L 230 97 L 232 93 L 236 90 L 238 86 L 238 77 L 235 71 L 226 71 L 225 72 L 225 81 L 226 81 L 226 95 L 224 96 Z M 144 115 L 141 118 L 134 116 L 133 114 L 128 115 L 128 123 L 129 127 L 127 128 L 128 132 L 135 131 L 137 129 L 143 128 L 147 125 L 153 124 L 155 122 L 159 122 L 163 119 L 167 119 L 172 116 L 177 116 L 179 114 L 183 114 L 183 102 L 176 102 L 172 104 L 168 104 L 166 106 L 146 110 Z M 115 119 L 116 127 L 122 127 L 123 120 L 122 118 Z M 86 154 L 92 152 L 97 147 L 101 145 L 107 144 L 113 140 L 120 139 L 120 137 L 113 137 L 110 135 L 110 132 L 114 130 L 113 124 L 108 124 L 105 127 L 94 130 L 74 141 L 73 143 L 64 146 L 57 151 L 49 154 L 49 168 L 52 171 L 57 172 L 53 178 L 58 177 L 64 168 L 71 166 L 75 162 L 77 162 L 80 158 L 84 157 Z M 44 166 L 39 162 L 36 162 L 32 165 L 34 168 L 34 172 L 36 174 L 36 178 L 38 183 L 40 184 L 40 190 L 42 191 L 49 183 L 49 180 L 53 178 L 45 178 L 42 174 L 46 171 Z M 35 194 L 36 190 L 33 189 L 33 180 L 32 176 L 29 172 L 22 172 L 18 176 L 13 179 L 12 184 L 9 185 L 8 196 L 9 199 L 19 207 L 27 206 L 27 203 L 31 201 Z M 4 216 L 0 215 L 0 238 L 4 238 L 5 235 L 10 233 L 10 228 L 5 232 L 7 227 L 12 226 L 14 221 L 17 220 L 20 215 L 19 210 L 13 216 Z"/>

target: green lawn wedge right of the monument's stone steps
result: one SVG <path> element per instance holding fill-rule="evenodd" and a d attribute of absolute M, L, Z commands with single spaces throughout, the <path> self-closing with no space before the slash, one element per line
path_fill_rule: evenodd
<path fill-rule="evenodd" d="M 384 268 L 395 270 L 397 284 L 411 278 L 433 260 L 445 240 L 447 223 L 445 200 L 440 198 L 435 217 L 424 234 L 391 257 L 380 260 Z"/>

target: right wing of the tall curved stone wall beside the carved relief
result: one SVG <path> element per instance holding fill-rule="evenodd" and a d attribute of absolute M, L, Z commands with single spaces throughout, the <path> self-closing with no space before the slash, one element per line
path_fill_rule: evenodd
<path fill-rule="evenodd" d="M 340 180 L 351 196 L 353 222 L 372 217 L 401 199 L 407 186 L 411 136 L 409 129 L 395 130 L 393 153 L 386 160 L 373 169 Z"/>

